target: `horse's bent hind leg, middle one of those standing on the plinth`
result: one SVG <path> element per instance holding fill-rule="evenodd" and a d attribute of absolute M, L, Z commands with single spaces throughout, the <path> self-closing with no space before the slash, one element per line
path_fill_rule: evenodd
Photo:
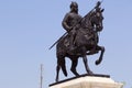
<path fill-rule="evenodd" d="M 75 76 L 79 76 L 79 74 L 77 73 L 76 70 L 76 67 L 77 67 L 77 64 L 78 64 L 78 57 L 73 57 L 70 58 L 72 59 L 72 73 L 75 75 Z"/>

